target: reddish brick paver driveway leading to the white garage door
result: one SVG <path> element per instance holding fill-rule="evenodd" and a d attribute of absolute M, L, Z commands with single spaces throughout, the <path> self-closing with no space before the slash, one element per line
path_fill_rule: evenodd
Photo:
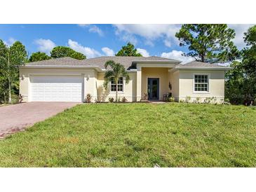
<path fill-rule="evenodd" d="M 0 107 L 0 138 L 74 107 L 75 102 L 29 102 Z"/>

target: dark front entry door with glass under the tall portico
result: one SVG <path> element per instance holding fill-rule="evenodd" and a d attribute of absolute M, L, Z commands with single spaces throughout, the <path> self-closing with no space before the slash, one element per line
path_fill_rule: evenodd
<path fill-rule="evenodd" d="M 159 78 L 147 78 L 147 95 L 149 100 L 159 100 Z"/>

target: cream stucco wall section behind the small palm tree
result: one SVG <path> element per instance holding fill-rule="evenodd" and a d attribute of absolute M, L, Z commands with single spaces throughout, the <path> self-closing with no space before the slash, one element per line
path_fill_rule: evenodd
<path fill-rule="evenodd" d="M 128 84 L 123 83 L 123 92 L 118 92 L 118 97 L 122 100 L 126 97 L 128 102 L 136 101 L 136 73 L 129 73 L 130 81 Z M 104 73 L 97 74 L 97 101 L 108 102 L 110 97 L 116 98 L 116 92 L 111 92 L 110 88 L 105 90 L 103 87 Z M 109 86 L 110 87 L 110 86 Z"/>

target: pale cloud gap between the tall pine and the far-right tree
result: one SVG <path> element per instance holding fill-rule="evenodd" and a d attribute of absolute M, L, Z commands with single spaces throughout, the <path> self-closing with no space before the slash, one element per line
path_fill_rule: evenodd
<path fill-rule="evenodd" d="M 229 28 L 235 29 L 236 37 L 234 39 L 234 44 L 239 48 L 245 47 L 245 43 L 243 41 L 244 32 L 247 32 L 249 27 L 252 27 L 253 24 L 230 24 Z"/>

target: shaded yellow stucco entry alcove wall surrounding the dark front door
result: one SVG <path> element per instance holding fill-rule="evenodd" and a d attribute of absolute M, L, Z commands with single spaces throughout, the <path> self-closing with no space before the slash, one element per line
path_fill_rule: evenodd
<path fill-rule="evenodd" d="M 147 93 L 147 78 L 159 78 L 159 99 L 170 92 L 168 68 L 142 67 L 142 97 Z"/>

